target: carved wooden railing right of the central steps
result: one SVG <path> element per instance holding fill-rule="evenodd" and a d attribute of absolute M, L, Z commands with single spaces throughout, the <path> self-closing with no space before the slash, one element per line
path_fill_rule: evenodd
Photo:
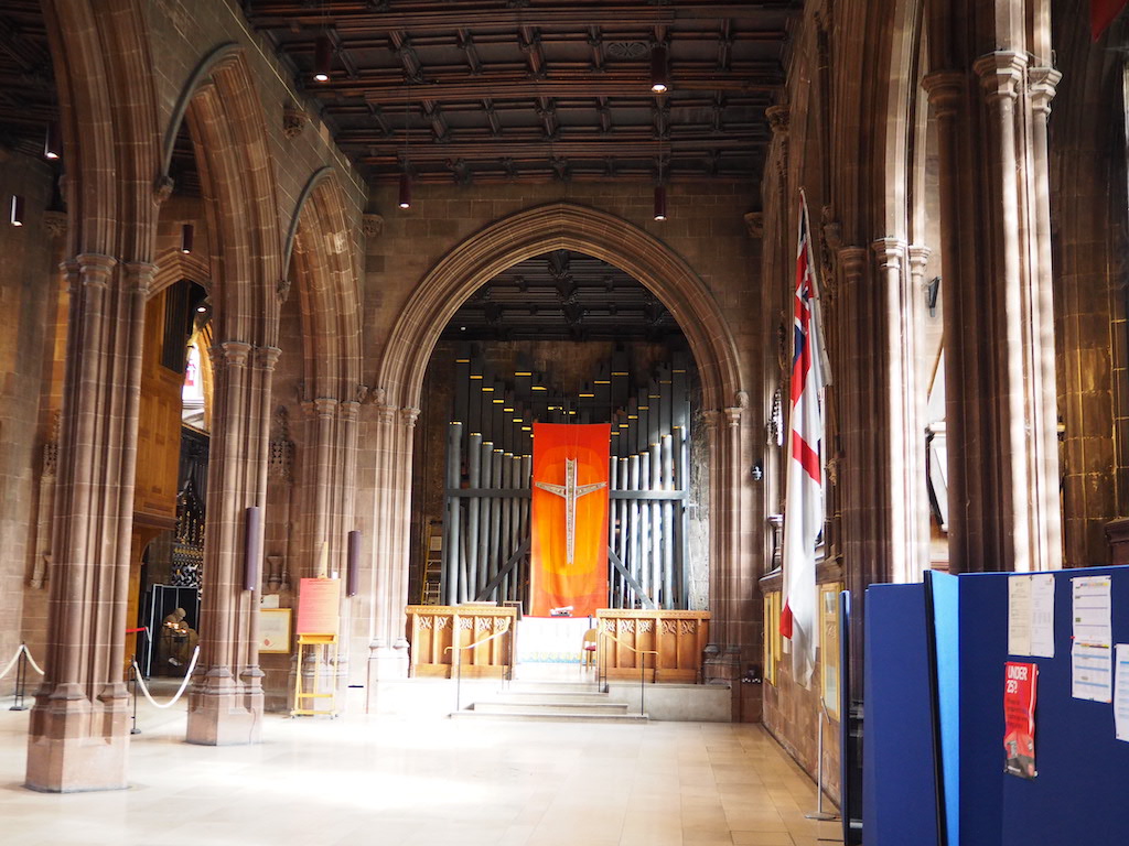
<path fill-rule="evenodd" d="M 596 611 L 599 666 L 610 679 L 701 681 L 702 653 L 709 641 L 709 611 Z"/>

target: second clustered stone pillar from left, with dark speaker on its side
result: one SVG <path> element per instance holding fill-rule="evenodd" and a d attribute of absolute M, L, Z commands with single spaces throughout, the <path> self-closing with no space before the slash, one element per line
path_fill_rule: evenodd
<path fill-rule="evenodd" d="M 186 739 L 259 741 L 263 714 L 255 591 L 243 589 L 246 509 L 263 506 L 271 380 L 280 351 L 225 341 L 212 347 L 215 414 L 208 472 L 200 659 L 189 694 Z"/>

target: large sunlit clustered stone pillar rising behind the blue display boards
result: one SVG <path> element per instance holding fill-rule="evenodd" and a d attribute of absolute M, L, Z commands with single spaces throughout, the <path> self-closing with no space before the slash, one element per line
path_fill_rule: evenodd
<path fill-rule="evenodd" d="M 953 572 L 1061 565 L 1049 256 L 1035 243 L 1049 212 L 1045 191 L 1027 190 L 1045 185 L 1045 156 L 1019 143 L 1026 62 L 979 59 L 982 106 L 964 73 L 925 80 L 938 121 Z"/>

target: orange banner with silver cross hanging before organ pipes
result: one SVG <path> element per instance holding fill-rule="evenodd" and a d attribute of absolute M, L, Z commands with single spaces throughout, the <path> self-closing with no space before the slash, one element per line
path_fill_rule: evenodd
<path fill-rule="evenodd" d="M 533 424 L 534 617 L 607 605 L 607 423 Z"/>

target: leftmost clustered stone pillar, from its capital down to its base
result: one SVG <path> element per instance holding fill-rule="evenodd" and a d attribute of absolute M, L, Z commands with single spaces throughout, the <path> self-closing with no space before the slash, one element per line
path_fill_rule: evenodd
<path fill-rule="evenodd" d="M 49 643 L 27 750 L 27 785 L 52 792 L 126 786 L 122 662 L 145 301 L 155 270 L 90 254 L 65 266 Z"/>

